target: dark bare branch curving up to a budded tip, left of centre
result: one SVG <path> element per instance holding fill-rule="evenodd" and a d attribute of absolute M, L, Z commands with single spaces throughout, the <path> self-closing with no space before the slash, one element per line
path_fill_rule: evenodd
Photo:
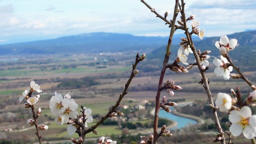
<path fill-rule="evenodd" d="M 102 119 L 100 121 L 98 121 L 95 125 L 91 126 L 90 128 L 83 130 L 82 131 L 82 137 L 85 137 L 85 135 L 89 132 L 92 132 L 94 129 L 96 129 L 99 125 L 103 124 L 104 121 L 109 118 L 110 114 L 112 114 L 113 112 L 115 112 L 115 109 L 120 105 L 123 97 L 127 94 L 127 89 L 129 87 L 129 85 L 131 84 L 131 81 L 133 79 L 133 77 L 135 76 L 135 74 L 133 73 L 133 71 L 135 70 L 137 64 L 141 61 L 141 59 L 139 58 L 139 54 L 136 55 L 136 59 L 135 59 L 135 63 L 133 64 L 132 67 L 132 73 L 130 75 L 130 78 L 128 79 L 127 83 L 125 84 L 124 90 L 122 92 L 122 94 L 120 94 L 118 100 L 116 101 L 116 104 L 114 106 L 112 106 L 112 108 L 109 110 L 108 114 L 106 114 L 104 117 L 102 117 Z"/>

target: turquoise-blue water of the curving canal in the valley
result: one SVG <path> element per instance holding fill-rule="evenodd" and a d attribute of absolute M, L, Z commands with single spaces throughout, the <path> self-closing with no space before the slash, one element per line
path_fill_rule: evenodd
<path fill-rule="evenodd" d="M 174 107 L 171 107 L 170 109 L 174 110 Z M 168 113 L 168 112 L 164 111 L 163 109 L 161 109 L 159 111 L 159 117 L 167 118 L 167 119 L 176 121 L 178 124 L 175 127 L 173 127 L 172 129 L 180 129 L 180 128 L 183 128 L 185 126 L 197 124 L 197 121 L 194 120 L 194 119 L 189 119 L 189 118 L 185 118 L 185 117 L 176 116 L 172 113 Z"/>

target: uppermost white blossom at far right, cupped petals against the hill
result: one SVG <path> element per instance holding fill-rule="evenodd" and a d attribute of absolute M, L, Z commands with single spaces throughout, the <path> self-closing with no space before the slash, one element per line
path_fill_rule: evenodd
<path fill-rule="evenodd" d="M 215 43 L 215 46 L 220 49 L 221 46 L 225 47 L 227 49 L 227 52 L 230 50 L 233 50 L 237 45 L 237 39 L 228 39 L 227 36 L 220 37 L 220 41 L 217 41 Z"/>

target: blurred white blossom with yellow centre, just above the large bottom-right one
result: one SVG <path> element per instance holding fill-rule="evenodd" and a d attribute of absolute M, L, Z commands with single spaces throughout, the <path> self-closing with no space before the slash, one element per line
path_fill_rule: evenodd
<path fill-rule="evenodd" d="M 230 110 L 232 107 L 232 98 L 230 95 L 225 93 L 218 93 L 217 99 L 215 100 L 216 106 L 220 109 L 221 112 Z"/>

